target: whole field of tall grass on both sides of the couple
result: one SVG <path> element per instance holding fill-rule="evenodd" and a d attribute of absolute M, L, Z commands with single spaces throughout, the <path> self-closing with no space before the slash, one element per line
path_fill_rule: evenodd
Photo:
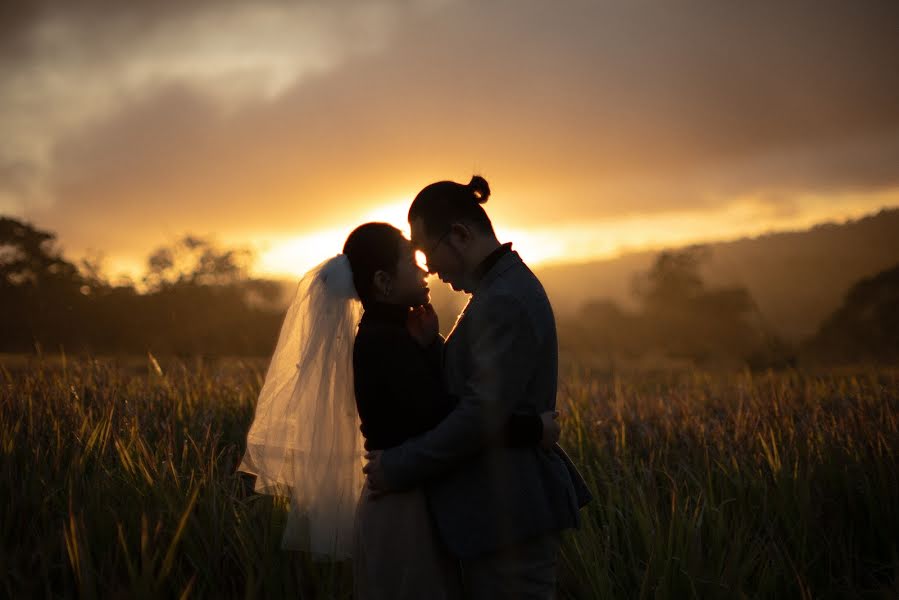
<path fill-rule="evenodd" d="M 0 361 L 0 596 L 349 598 L 234 468 L 265 361 Z M 568 598 L 899 596 L 899 371 L 564 369 Z"/>

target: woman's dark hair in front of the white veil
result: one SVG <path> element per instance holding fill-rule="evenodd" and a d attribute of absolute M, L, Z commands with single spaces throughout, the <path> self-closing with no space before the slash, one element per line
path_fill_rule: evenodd
<path fill-rule="evenodd" d="M 403 232 L 389 223 L 365 223 L 347 237 L 343 253 L 353 270 L 353 285 L 365 306 L 374 299 L 374 278 L 378 271 L 396 275 Z"/>

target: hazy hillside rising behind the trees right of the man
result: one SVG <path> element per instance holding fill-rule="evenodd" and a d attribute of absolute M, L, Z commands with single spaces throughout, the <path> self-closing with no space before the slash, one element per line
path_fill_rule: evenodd
<path fill-rule="evenodd" d="M 899 261 L 899 208 L 883 209 L 842 224 L 805 231 L 708 244 L 702 268 L 711 285 L 742 285 L 769 325 L 798 340 L 814 333 L 836 310 L 849 288 Z M 608 298 L 632 306 L 632 282 L 657 252 L 639 252 L 584 264 L 537 269 L 558 316 L 585 302 Z"/>

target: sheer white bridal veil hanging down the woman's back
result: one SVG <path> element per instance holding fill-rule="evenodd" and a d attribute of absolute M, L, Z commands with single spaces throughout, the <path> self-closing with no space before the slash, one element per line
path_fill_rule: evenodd
<path fill-rule="evenodd" d="M 306 273 L 259 393 L 238 470 L 256 475 L 257 492 L 290 497 L 285 550 L 350 556 L 364 483 L 352 364 L 361 315 L 345 255 Z"/>

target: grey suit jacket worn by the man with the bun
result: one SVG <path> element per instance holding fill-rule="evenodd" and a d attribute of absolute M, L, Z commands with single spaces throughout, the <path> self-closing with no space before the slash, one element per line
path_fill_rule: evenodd
<path fill-rule="evenodd" d="M 390 487 L 424 485 L 441 538 L 461 558 L 576 527 L 589 493 L 561 448 L 500 442 L 510 414 L 556 404 L 555 319 L 516 252 L 478 283 L 444 353 L 446 385 L 459 403 L 431 431 L 384 452 Z"/>

